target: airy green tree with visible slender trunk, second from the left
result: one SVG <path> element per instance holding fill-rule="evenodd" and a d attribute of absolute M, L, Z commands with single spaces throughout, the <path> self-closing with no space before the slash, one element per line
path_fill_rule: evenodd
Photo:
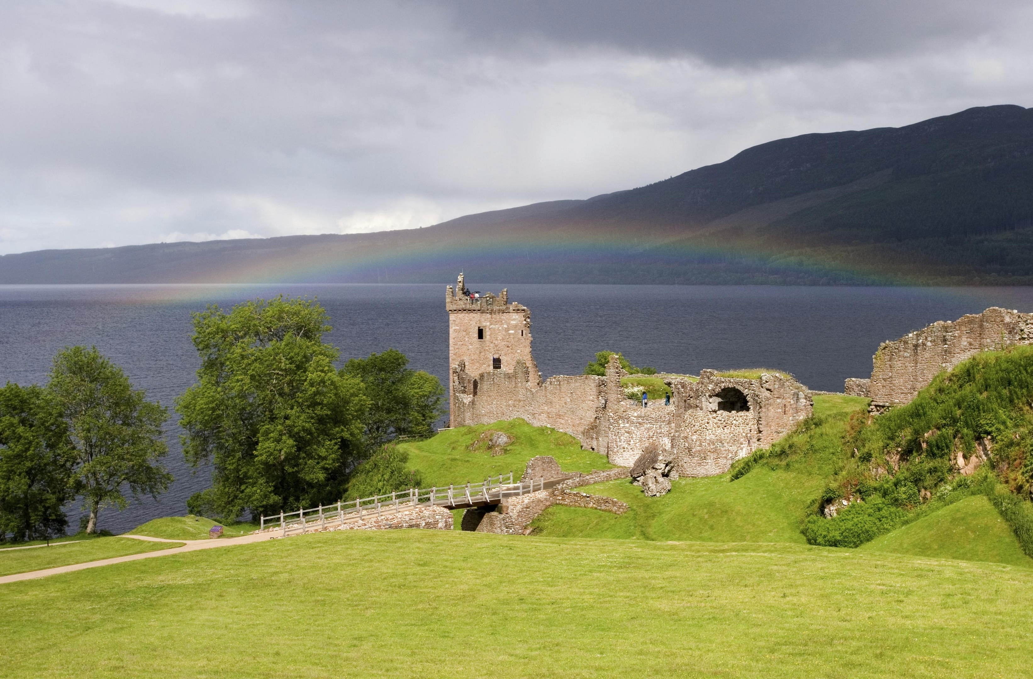
<path fill-rule="evenodd" d="M 48 390 L 75 450 L 75 482 L 89 511 L 87 532 L 97 531 L 105 507 L 125 509 L 148 493 L 157 497 L 173 481 L 158 460 L 165 456 L 162 425 L 168 410 L 133 389 L 122 368 L 96 347 L 66 347 L 54 357 Z"/>

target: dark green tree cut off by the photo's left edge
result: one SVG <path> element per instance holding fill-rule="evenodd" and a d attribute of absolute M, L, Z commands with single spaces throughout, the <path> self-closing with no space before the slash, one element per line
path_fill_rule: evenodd
<path fill-rule="evenodd" d="M 75 496 L 73 453 L 45 389 L 0 388 L 0 542 L 64 532 L 68 520 L 61 508 Z"/>

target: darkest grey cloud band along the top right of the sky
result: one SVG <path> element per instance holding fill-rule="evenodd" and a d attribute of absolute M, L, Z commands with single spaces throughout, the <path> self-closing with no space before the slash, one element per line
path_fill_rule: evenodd
<path fill-rule="evenodd" d="M 1020 0 L 440 0 L 474 41 L 541 39 L 744 65 L 859 59 L 976 39 Z"/>

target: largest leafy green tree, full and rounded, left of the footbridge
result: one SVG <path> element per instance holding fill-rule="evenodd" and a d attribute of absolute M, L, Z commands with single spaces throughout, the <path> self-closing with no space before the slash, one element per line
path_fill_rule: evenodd
<path fill-rule="evenodd" d="M 183 453 L 212 460 L 214 487 L 191 498 L 225 519 L 337 502 L 363 451 L 362 382 L 314 300 L 278 296 L 194 315 L 197 382 L 177 399 Z"/>

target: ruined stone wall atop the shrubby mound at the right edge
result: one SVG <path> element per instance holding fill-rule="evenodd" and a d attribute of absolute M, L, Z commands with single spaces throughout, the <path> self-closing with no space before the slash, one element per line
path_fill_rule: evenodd
<path fill-rule="evenodd" d="M 868 395 L 876 410 L 907 403 L 941 370 L 980 351 L 1028 344 L 1033 344 L 1033 314 L 992 306 L 957 321 L 937 321 L 879 346 Z"/>

